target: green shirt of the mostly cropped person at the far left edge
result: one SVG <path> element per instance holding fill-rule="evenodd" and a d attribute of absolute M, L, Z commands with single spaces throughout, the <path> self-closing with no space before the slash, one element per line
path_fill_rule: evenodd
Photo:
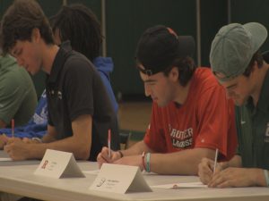
<path fill-rule="evenodd" d="M 10 56 L 0 56 L 0 120 L 15 126 L 30 120 L 37 105 L 37 94 L 29 73 Z"/>

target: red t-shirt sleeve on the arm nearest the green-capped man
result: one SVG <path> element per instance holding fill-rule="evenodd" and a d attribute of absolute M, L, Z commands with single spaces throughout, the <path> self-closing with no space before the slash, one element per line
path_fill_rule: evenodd
<path fill-rule="evenodd" d="M 230 158 L 237 147 L 234 104 L 226 98 L 225 89 L 207 88 L 197 105 L 199 133 L 195 147 L 220 150 L 221 156 Z"/>

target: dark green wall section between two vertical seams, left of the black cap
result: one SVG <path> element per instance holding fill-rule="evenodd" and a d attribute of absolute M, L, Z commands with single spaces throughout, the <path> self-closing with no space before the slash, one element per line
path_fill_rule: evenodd
<path fill-rule="evenodd" d="M 108 0 L 108 55 L 115 62 L 112 83 L 115 92 L 143 94 L 143 83 L 134 68 L 135 46 L 143 33 L 156 24 L 178 34 L 195 35 L 195 0 Z"/>

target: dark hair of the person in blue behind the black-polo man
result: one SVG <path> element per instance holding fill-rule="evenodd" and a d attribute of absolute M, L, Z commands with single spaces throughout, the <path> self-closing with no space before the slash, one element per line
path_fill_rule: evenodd
<path fill-rule="evenodd" d="M 83 4 L 63 6 L 50 18 L 54 33 L 59 30 L 62 42 L 70 40 L 72 48 L 92 61 L 100 55 L 102 36 L 100 22 L 91 9 Z"/>

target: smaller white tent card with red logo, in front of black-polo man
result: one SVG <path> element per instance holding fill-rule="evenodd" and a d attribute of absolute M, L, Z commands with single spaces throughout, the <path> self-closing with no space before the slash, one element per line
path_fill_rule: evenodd
<path fill-rule="evenodd" d="M 85 177 L 75 162 L 72 153 L 51 149 L 47 149 L 34 174 L 56 179 L 63 177 Z"/>

